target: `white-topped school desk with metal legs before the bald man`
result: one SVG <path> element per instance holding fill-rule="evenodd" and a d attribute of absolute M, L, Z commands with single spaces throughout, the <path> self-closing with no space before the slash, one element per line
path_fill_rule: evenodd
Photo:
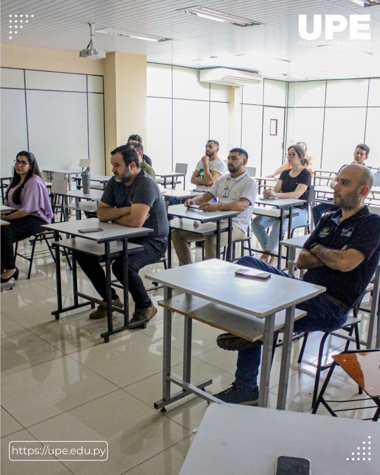
<path fill-rule="evenodd" d="M 235 271 L 241 269 L 241 267 L 243 266 L 220 259 L 210 259 L 145 276 L 149 280 L 164 285 L 164 301 L 159 302 L 159 305 L 164 307 L 163 398 L 155 404 L 156 408 L 163 408 L 167 404 L 180 399 L 178 396 L 171 398 L 171 382 L 175 382 L 207 401 L 221 402 L 219 399 L 199 390 L 197 386 L 190 384 L 191 349 L 189 349 L 189 339 L 191 342 L 191 318 L 185 319 L 184 379 L 180 380 L 171 375 L 171 308 L 177 305 L 176 297 L 172 298 L 172 290 L 175 289 L 178 292 L 185 292 L 185 294 L 194 295 L 223 307 L 237 310 L 242 313 L 242 315 L 239 314 L 240 318 L 256 317 L 265 320 L 259 397 L 259 405 L 262 407 L 266 407 L 268 404 L 275 317 L 277 312 L 286 309 L 277 399 L 277 408 L 285 409 L 295 305 L 319 295 L 326 289 L 320 285 L 277 275 L 272 275 L 267 281 L 236 276 Z M 257 271 L 257 273 L 260 273 L 260 271 Z M 211 284 L 216 281 L 217 285 Z M 170 300 L 172 302 L 169 302 Z M 252 322 L 252 326 L 253 324 L 254 322 Z"/>

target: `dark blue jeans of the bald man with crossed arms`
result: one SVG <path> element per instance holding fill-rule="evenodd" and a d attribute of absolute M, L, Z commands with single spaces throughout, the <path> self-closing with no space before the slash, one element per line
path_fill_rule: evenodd
<path fill-rule="evenodd" d="M 289 279 L 296 279 L 294 276 L 288 276 L 285 272 L 268 266 L 268 264 L 255 257 L 242 257 L 238 260 L 237 264 L 253 267 L 254 269 L 270 272 L 271 274 L 277 274 Z M 307 312 L 307 315 L 294 322 L 294 332 L 332 331 L 340 328 L 347 320 L 347 315 L 330 300 L 327 300 L 323 293 L 297 304 L 296 308 L 304 310 Z M 260 361 L 261 345 L 238 352 L 238 363 L 235 373 L 238 386 L 246 390 L 254 389 L 257 386 Z"/>

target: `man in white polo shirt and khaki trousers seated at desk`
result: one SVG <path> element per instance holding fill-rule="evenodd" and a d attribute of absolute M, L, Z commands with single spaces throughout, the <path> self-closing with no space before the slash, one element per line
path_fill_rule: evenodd
<path fill-rule="evenodd" d="M 239 211 L 233 218 L 232 240 L 241 239 L 245 236 L 252 217 L 252 208 L 256 201 L 257 183 L 247 175 L 245 166 L 248 154 L 242 148 L 233 148 L 228 156 L 229 174 L 218 178 L 214 185 L 205 193 L 185 201 L 185 206 L 199 205 L 202 211 Z M 214 198 L 218 203 L 210 203 Z M 172 241 L 176 250 L 180 266 L 191 264 L 191 254 L 188 242 L 205 240 L 206 259 L 216 257 L 216 235 L 199 239 L 198 233 L 175 229 L 172 231 Z M 220 237 L 221 247 L 227 245 L 228 233 L 222 233 Z"/>

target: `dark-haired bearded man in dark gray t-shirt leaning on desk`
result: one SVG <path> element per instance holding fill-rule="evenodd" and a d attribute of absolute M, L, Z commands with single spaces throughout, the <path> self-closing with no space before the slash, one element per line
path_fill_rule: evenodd
<path fill-rule="evenodd" d="M 97 208 L 99 221 L 112 221 L 121 226 L 150 228 L 153 233 L 142 238 L 129 239 L 143 246 L 143 251 L 128 257 L 128 288 L 135 302 L 135 313 L 131 323 L 150 320 L 156 313 L 139 270 L 160 260 L 168 245 L 169 225 L 165 202 L 156 182 L 140 168 L 137 151 L 123 145 L 111 152 L 114 176 L 108 181 Z M 103 268 L 94 256 L 77 254 L 77 262 L 93 283 L 96 291 L 106 300 L 106 284 Z M 123 284 L 123 259 L 116 257 L 112 272 Z M 113 305 L 122 307 L 115 289 L 112 287 Z M 107 307 L 99 307 L 90 314 L 91 319 L 106 317 Z"/>

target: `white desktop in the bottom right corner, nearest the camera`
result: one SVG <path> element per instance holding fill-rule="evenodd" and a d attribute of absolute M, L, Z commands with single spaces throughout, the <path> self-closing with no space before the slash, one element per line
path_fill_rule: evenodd
<path fill-rule="evenodd" d="M 310 459 L 312 475 L 375 475 L 379 445 L 368 421 L 210 404 L 180 475 L 275 475 L 279 455 Z"/>

